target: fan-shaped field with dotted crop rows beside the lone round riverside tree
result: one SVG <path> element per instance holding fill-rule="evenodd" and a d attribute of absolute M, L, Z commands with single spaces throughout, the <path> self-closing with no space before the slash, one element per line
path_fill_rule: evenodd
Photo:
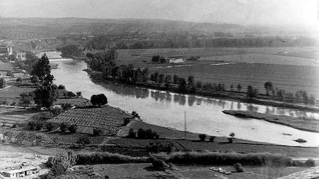
<path fill-rule="evenodd" d="M 102 108 L 68 110 L 49 121 L 88 128 L 82 130 L 84 133 L 92 133 L 92 128 L 101 128 L 104 135 L 116 135 L 122 127 L 123 119 L 127 117 L 131 117 L 130 114 L 107 105 Z"/>

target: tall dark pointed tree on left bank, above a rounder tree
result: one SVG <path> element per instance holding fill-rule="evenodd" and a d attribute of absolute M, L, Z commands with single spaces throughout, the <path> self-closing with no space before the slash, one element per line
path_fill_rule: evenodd
<path fill-rule="evenodd" d="M 44 78 L 46 75 L 51 74 L 51 67 L 49 58 L 46 56 L 46 53 L 43 54 L 39 60 L 33 65 L 31 75 Z"/>

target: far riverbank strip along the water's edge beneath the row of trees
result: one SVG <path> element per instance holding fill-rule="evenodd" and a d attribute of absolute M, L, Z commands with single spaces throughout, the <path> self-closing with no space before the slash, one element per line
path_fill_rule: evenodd
<path fill-rule="evenodd" d="M 114 80 L 113 78 L 107 78 L 103 76 L 103 73 L 101 71 L 94 71 L 92 69 L 83 69 L 83 71 L 86 71 L 87 74 L 89 74 L 92 78 L 95 80 L 107 80 L 109 82 L 116 82 L 121 83 L 118 80 Z M 267 99 L 268 96 L 261 96 L 261 98 L 255 97 L 255 99 L 247 99 L 245 92 L 234 92 L 234 91 L 214 91 L 209 89 L 196 89 L 193 93 L 188 92 L 180 92 L 180 89 L 178 89 L 178 85 L 170 83 L 169 89 L 168 87 L 165 87 L 164 84 L 157 84 L 152 81 L 147 81 L 146 83 L 135 83 L 135 84 L 127 84 L 126 85 L 134 85 L 139 87 L 147 87 L 149 89 L 158 89 L 166 92 L 175 92 L 178 94 L 195 94 L 198 96 L 203 97 L 209 97 L 209 98 L 216 98 L 216 99 L 224 99 L 229 101 L 239 101 L 241 103 L 253 103 L 257 105 L 271 105 L 274 107 L 280 107 L 280 108 L 293 108 L 298 110 L 306 110 L 309 112 L 319 112 L 319 108 L 316 106 L 309 106 L 309 105 L 302 105 L 302 104 L 296 104 L 296 103 L 286 103 L 282 101 L 273 101 L 270 99 Z"/>

